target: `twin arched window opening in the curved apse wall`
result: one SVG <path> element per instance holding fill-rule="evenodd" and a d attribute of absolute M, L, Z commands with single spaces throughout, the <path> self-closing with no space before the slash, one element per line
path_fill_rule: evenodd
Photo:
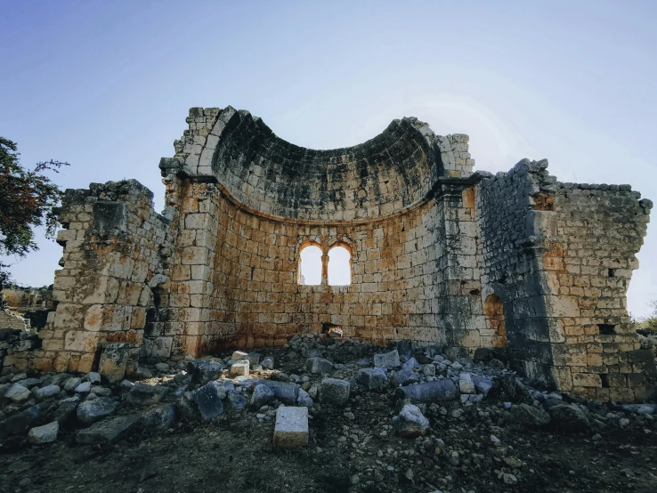
<path fill-rule="evenodd" d="M 299 284 L 317 286 L 324 276 L 328 279 L 328 286 L 352 284 L 352 255 L 347 248 L 341 245 L 331 247 L 324 256 L 318 245 L 310 244 L 301 249 L 299 257 Z"/>

